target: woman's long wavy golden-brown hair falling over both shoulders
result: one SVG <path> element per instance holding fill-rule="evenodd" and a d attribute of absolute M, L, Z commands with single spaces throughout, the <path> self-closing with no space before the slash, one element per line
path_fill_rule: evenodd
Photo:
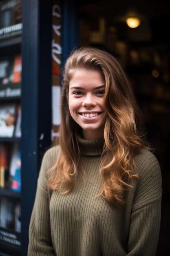
<path fill-rule="evenodd" d="M 64 66 L 61 95 L 60 153 L 49 173 L 49 188 L 69 193 L 79 173 L 83 176 L 80 149 L 77 140 L 79 126 L 68 108 L 69 81 L 77 68 L 99 70 L 106 82 L 104 103 L 106 122 L 104 148 L 99 172 L 104 179 L 100 195 L 111 203 L 124 203 L 123 192 L 135 173 L 135 155 L 150 149 L 142 127 L 141 112 L 135 100 L 130 81 L 114 56 L 93 47 L 74 49 Z M 81 170 L 81 171 L 79 171 Z"/>

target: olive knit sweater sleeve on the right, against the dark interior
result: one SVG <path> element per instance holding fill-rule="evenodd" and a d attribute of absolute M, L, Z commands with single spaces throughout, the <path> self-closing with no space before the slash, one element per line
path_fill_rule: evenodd
<path fill-rule="evenodd" d="M 161 222 L 162 180 L 155 155 L 143 151 L 137 157 L 137 184 L 130 216 L 128 256 L 155 256 Z"/>

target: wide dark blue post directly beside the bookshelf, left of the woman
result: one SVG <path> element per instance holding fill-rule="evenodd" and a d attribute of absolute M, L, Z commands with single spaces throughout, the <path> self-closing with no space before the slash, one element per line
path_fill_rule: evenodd
<path fill-rule="evenodd" d="M 29 0 L 22 8 L 21 256 L 26 256 L 40 162 L 51 144 L 52 7 L 51 1 Z"/>

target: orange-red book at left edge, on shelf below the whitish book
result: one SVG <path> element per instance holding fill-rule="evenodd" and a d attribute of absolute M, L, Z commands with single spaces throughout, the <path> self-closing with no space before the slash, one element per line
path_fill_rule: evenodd
<path fill-rule="evenodd" d="M 0 143 L 0 187 L 8 186 L 9 180 L 9 146 Z"/>

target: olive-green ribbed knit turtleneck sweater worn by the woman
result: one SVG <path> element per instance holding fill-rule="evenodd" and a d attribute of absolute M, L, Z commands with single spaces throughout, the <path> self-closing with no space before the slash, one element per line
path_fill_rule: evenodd
<path fill-rule="evenodd" d="M 132 189 L 126 204 L 114 205 L 97 197 L 103 178 L 99 174 L 103 139 L 79 138 L 81 162 L 86 174 L 73 190 L 50 193 L 48 170 L 59 146 L 44 154 L 29 227 L 28 256 L 155 256 L 161 218 L 162 180 L 159 163 L 148 150 L 135 157 Z"/>

